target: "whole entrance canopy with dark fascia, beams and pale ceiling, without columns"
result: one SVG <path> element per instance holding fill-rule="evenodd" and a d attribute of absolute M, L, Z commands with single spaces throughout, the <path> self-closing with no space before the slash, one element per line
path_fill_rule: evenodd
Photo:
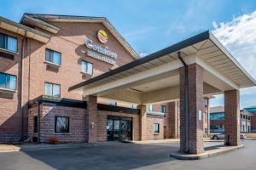
<path fill-rule="evenodd" d="M 183 63 L 178 59 L 177 52 L 187 65 L 196 63 L 203 68 L 205 96 L 256 84 L 211 31 L 205 31 L 74 85 L 69 91 L 136 104 L 179 99 L 179 68 L 183 67 Z"/>

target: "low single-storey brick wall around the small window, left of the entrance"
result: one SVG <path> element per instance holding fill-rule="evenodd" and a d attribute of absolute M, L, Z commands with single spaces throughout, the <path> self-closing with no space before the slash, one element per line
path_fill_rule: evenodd
<path fill-rule="evenodd" d="M 30 109 L 29 114 L 29 135 L 37 137 L 33 133 L 33 117 L 37 115 L 38 107 Z M 41 105 L 40 108 L 40 142 L 48 143 L 49 139 L 57 138 L 61 143 L 85 142 L 87 136 L 85 133 L 86 121 L 85 109 L 66 106 Z M 55 116 L 69 116 L 69 133 L 55 133 Z"/>

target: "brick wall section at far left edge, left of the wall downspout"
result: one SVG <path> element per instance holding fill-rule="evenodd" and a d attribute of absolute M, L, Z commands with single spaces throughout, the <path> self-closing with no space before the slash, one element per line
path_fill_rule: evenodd
<path fill-rule="evenodd" d="M 21 42 L 22 37 L 11 31 L 0 28 L 0 32 L 18 38 L 18 53 L 15 59 L 5 59 L 0 56 L 0 72 L 15 75 L 17 77 L 17 92 L 11 94 L 12 98 L 0 97 L 0 143 L 17 142 L 20 140 L 20 84 L 21 84 Z M 11 53 L 13 54 L 13 53 Z M 0 92 L 0 96 L 9 94 Z"/>

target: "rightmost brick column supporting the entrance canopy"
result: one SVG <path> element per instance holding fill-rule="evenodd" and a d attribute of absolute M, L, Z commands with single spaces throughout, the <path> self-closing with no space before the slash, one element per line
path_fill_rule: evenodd
<path fill-rule="evenodd" d="M 240 95 L 238 90 L 224 92 L 225 105 L 225 145 L 240 144 Z"/>

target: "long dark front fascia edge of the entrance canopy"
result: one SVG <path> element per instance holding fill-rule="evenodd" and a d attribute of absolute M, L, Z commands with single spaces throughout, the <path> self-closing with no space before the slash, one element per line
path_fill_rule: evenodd
<path fill-rule="evenodd" d="M 120 66 L 120 67 L 118 67 L 118 68 L 116 68 L 112 71 L 105 72 L 102 75 L 91 78 L 91 79 L 89 79 L 87 81 L 84 81 L 84 82 L 80 82 L 79 84 L 76 84 L 76 85 L 68 88 L 68 91 L 73 91 L 76 88 L 81 88 L 82 86 L 88 85 L 92 82 L 97 82 L 97 81 L 102 80 L 104 78 L 111 77 L 114 74 L 117 74 L 119 72 L 127 71 L 127 70 L 129 70 L 132 67 L 135 67 L 137 65 L 143 65 L 144 63 L 147 63 L 147 62 L 149 62 L 153 59 L 158 59 L 161 56 L 164 56 L 166 54 L 171 54 L 172 52 L 178 51 L 181 48 L 185 48 L 185 47 L 193 45 L 197 42 L 202 42 L 204 40 L 207 40 L 210 36 L 209 32 L 210 31 L 204 31 L 201 34 L 195 35 L 194 37 L 189 37 L 188 39 L 183 40 L 182 42 L 177 42 L 176 44 L 174 44 L 174 45 L 172 45 L 168 48 L 164 48 L 160 51 L 157 51 L 154 54 L 148 54 L 147 56 L 145 56 L 143 58 L 131 61 L 131 63 L 128 63 L 126 65 L 122 65 L 122 66 Z"/>

